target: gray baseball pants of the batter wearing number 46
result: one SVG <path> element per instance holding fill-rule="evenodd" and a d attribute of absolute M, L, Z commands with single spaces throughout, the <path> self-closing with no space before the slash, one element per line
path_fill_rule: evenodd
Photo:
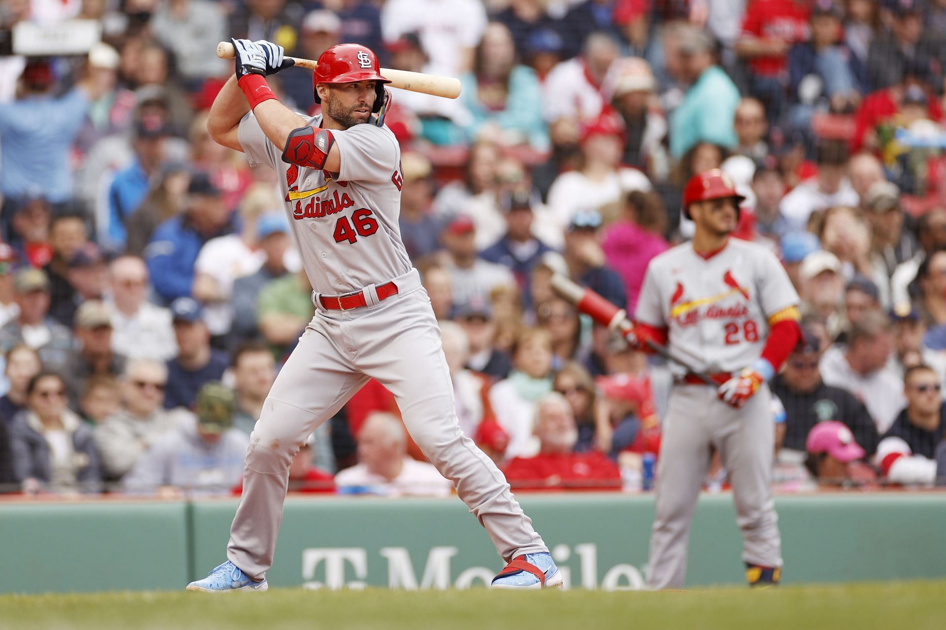
<path fill-rule="evenodd" d="M 272 567 L 289 485 L 289 463 L 315 427 L 370 378 L 394 394 L 408 433 L 451 480 L 503 560 L 548 552 L 499 468 L 460 431 L 440 329 L 416 270 L 394 279 L 398 293 L 369 306 L 316 312 L 272 384 L 250 436 L 243 495 L 227 557 L 260 580 Z"/>

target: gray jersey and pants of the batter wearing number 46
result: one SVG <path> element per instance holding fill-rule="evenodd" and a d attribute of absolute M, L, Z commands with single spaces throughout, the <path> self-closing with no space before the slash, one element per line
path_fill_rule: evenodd
<path fill-rule="evenodd" d="M 320 123 L 318 116 L 311 119 Z M 408 433 L 454 483 L 504 560 L 547 552 L 499 468 L 460 430 L 440 328 L 397 228 L 401 173 L 394 134 L 363 124 L 332 135 L 342 158 L 337 174 L 282 162 L 282 147 L 266 138 L 252 113 L 239 126 L 250 163 L 269 164 L 283 176 L 292 237 L 315 292 L 360 290 L 367 306 L 330 311 L 313 300 L 315 315 L 250 436 L 227 557 L 254 579 L 266 575 L 292 456 L 370 378 L 394 395 Z M 375 285 L 387 281 L 397 293 L 379 299 Z"/>

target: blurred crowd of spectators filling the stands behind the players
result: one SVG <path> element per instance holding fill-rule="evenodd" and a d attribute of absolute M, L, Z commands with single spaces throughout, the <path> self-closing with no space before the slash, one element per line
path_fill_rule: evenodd
<path fill-rule="evenodd" d="M 79 21 L 99 34 L 87 52 L 17 54 L 25 26 Z M 312 59 L 363 43 L 383 67 L 461 78 L 456 100 L 395 90 L 386 122 L 460 426 L 514 489 L 649 487 L 672 371 L 551 279 L 633 313 L 648 262 L 692 233 L 683 184 L 710 168 L 746 196 L 736 236 L 775 251 L 802 299 L 803 342 L 771 383 L 777 485 L 934 485 L 944 27 L 944 0 L 9 0 L 0 489 L 239 492 L 314 307 L 275 174 L 206 130 L 231 36 Z M 270 83 L 318 112 L 309 72 Z M 289 476 L 451 491 L 375 382 Z"/>

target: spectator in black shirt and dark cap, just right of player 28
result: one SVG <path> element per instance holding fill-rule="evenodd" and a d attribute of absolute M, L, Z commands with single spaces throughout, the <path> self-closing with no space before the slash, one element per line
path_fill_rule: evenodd
<path fill-rule="evenodd" d="M 879 441 L 874 421 L 864 403 L 850 392 L 821 380 L 818 369 L 821 349 L 815 334 L 804 331 L 802 341 L 789 355 L 785 369 L 770 384 L 772 393 L 785 407 L 785 433 L 781 447 L 804 451 L 805 440 L 815 425 L 832 420 L 850 429 L 867 454 L 873 453 Z"/>

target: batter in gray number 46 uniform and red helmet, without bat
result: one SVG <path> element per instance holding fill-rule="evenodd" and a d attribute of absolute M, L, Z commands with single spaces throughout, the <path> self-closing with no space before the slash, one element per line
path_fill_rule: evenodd
<path fill-rule="evenodd" d="M 384 127 L 390 94 L 375 53 L 354 43 L 328 48 L 312 79 L 322 114 L 304 118 L 266 82 L 286 65 L 282 47 L 233 43 L 236 76 L 207 127 L 219 144 L 280 175 L 316 309 L 250 437 L 227 561 L 187 589 L 267 588 L 292 456 L 370 378 L 394 394 L 413 440 L 508 563 L 492 586 L 561 586 L 499 468 L 460 431 L 440 329 L 398 230 L 401 154 Z"/>

